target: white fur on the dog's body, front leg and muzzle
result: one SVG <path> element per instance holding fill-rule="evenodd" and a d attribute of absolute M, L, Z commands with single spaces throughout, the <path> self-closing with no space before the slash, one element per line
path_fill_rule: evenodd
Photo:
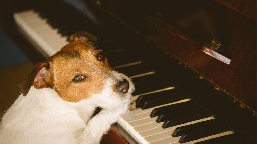
<path fill-rule="evenodd" d="M 36 89 L 22 94 L 4 114 L 0 124 L 0 143 L 99 143 L 118 115 L 129 108 L 132 82 L 116 71 L 106 79 L 102 93 L 80 102 L 67 102 L 54 89 Z M 127 94 L 111 89 L 113 79 L 130 81 Z M 103 109 L 95 115 L 96 106 Z"/>

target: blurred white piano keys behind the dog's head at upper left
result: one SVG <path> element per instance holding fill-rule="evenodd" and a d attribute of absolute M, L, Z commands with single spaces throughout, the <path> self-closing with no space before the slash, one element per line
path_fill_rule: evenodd
<path fill-rule="evenodd" d="M 37 12 L 28 10 L 14 13 L 13 16 L 19 28 L 46 57 L 52 56 L 68 44 L 67 36 L 61 36 L 58 29 L 53 29 Z"/>

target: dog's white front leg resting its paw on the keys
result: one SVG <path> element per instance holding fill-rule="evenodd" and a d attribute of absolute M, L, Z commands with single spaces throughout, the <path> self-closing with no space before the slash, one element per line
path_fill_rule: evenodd
<path fill-rule="evenodd" d="M 83 133 L 83 143 L 100 143 L 101 137 L 117 122 L 118 115 L 128 110 L 128 104 L 119 108 L 102 109 L 90 121 L 88 121 Z"/>

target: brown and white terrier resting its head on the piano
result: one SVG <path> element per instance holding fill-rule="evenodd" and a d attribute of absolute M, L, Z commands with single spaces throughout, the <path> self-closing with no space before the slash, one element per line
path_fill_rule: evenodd
<path fill-rule="evenodd" d="M 129 109 L 132 81 L 113 70 L 85 31 L 35 65 L 3 115 L 0 143 L 100 143 Z M 102 110 L 93 116 L 96 107 Z"/>

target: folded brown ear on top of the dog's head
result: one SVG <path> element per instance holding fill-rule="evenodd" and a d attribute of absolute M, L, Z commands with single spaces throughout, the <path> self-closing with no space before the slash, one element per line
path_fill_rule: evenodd
<path fill-rule="evenodd" d="M 73 42 L 75 40 L 81 40 L 84 42 L 91 42 L 91 43 L 97 42 L 97 38 L 86 31 L 79 31 L 70 36 L 69 42 Z"/>

